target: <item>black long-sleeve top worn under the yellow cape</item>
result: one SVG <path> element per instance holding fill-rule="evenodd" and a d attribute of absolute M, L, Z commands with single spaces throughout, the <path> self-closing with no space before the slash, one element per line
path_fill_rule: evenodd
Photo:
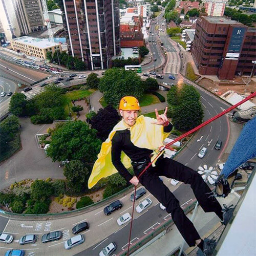
<path fill-rule="evenodd" d="M 163 131 L 169 133 L 172 131 L 173 125 L 169 123 L 164 126 Z M 111 158 L 112 163 L 118 170 L 118 173 L 129 182 L 133 176 L 128 172 L 121 162 L 121 151 L 123 151 L 132 161 L 140 161 L 145 158 L 150 158 L 152 150 L 135 146 L 131 141 L 131 132 L 126 129 L 117 131 L 112 138 Z"/>

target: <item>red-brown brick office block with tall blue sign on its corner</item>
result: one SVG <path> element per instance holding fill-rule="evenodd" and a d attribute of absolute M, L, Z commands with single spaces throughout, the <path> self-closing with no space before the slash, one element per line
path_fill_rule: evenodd
<path fill-rule="evenodd" d="M 204 16 L 197 21 L 192 56 L 202 75 L 220 79 L 250 75 L 251 61 L 256 60 L 256 29 L 236 20 Z"/>

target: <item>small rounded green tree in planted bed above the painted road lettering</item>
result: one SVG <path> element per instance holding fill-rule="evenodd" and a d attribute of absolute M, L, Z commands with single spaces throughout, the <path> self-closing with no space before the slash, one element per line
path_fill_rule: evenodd
<path fill-rule="evenodd" d="M 52 195 L 52 192 L 51 183 L 44 180 L 35 180 L 31 184 L 31 199 L 36 201 L 45 201 Z"/>

